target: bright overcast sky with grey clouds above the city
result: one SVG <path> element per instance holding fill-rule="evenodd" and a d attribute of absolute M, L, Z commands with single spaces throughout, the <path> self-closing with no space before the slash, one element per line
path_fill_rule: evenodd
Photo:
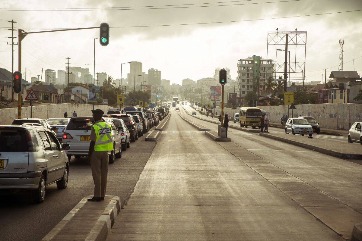
<path fill-rule="evenodd" d="M 144 9 L 160 5 L 175 6 Z M 201 7 L 216 5 L 229 6 Z M 112 27 L 109 45 L 102 47 L 96 40 L 95 70 L 107 72 L 114 79 L 121 77 L 121 63 L 129 61 L 141 61 L 146 73 L 151 68 L 161 70 L 161 78 L 171 83 L 181 84 L 184 78 L 212 77 L 215 68 L 230 68 L 231 78 L 235 79 L 239 59 L 253 55 L 266 57 L 268 31 L 276 28 L 307 31 L 307 81 L 321 80 L 325 68 L 327 76 L 332 70 L 338 70 L 340 39 L 345 43 L 343 70 L 362 72 L 362 11 L 270 19 L 362 10 L 361 0 L 0 0 L 0 6 L 0 67 L 10 71 L 11 45 L 7 44 L 10 40 L 7 37 L 11 31 L 7 29 L 11 24 L 7 21 L 13 19 L 17 22 L 14 27 L 29 29 L 94 27 L 109 23 Z M 129 9 L 114 10 L 113 7 Z M 1 10 L 8 8 L 42 11 Z M 64 11 L 67 8 L 82 9 Z M 269 20 L 257 20 L 266 18 Z M 225 21 L 240 22 L 133 27 Z M 17 31 L 14 34 L 17 35 Z M 27 68 L 30 81 L 30 77 L 41 74 L 42 68 L 64 70 L 65 58 L 70 57 L 71 66 L 86 68 L 89 64 L 93 74 L 93 42 L 97 37 L 98 29 L 30 34 L 22 42 L 22 72 Z M 14 50 L 14 70 L 17 70 L 17 46 Z M 275 59 L 275 53 L 275 48 L 269 49 L 268 58 Z M 126 78 L 127 73 L 129 65 L 125 64 L 122 76 Z"/>

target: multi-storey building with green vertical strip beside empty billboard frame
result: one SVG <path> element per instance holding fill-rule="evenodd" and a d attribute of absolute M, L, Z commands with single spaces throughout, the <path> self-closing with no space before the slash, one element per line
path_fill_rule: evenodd
<path fill-rule="evenodd" d="M 253 55 L 247 59 L 240 59 L 237 64 L 237 95 L 244 97 L 249 91 L 256 88 L 256 96 L 265 95 L 264 83 L 268 78 L 273 77 L 274 64 L 272 59 L 262 59 Z M 259 83 L 259 85 L 257 84 Z"/>

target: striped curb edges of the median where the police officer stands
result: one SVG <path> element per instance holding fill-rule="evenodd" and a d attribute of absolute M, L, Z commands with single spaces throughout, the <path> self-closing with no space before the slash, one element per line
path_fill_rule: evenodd
<path fill-rule="evenodd" d="M 121 200 L 119 197 L 106 195 L 112 197 L 108 206 L 105 208 L 104 212 L 98 218 L 97 223 L 93 226 L 90 232 L 85 238 L 86 241 L 102 241 L 106 240 L 119 212 L 121 211 Z M 68 214 L 60 220 L 60 222 L 55 225 L 54 228 L 43 237 L 42 241 L 51 241 L 56 235 L 64 228 L 64 226 L 72 220 L 73 216 L 84 207 L 88 198 L 92 198 L 93 195 L 89 195 L 81 199 L 81 201 L 74 207 Z"/>

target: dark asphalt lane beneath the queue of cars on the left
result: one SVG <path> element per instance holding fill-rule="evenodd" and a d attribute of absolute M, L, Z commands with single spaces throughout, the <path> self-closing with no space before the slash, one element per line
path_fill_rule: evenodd
<path fill-rule="evenodd" d="M 152 128 L 153 130 L 153 128 Z M 121 199 L 122 205 L 132 193 L 139 175 L 155 147 L 139 137 L 122 158 L 109 165 L 107 195 Z M 26 195 L 0 196 L 0 240 L 41 240 L 85 196 L 93 194 L 93 178 L 85 158 L 70 163 L 68 187 L 58 190 L 56 184 L 47 186 L 45 201 L 33 204 Z"/>

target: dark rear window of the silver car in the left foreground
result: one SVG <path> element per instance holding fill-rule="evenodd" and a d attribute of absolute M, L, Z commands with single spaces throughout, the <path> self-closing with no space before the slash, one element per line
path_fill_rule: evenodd
<path fill-rule="evenodd" d="M 33 139 L 29 141 L 28 139 Z M 3 152 L 24 152 L 35 151 L 34 148 L 38 146 L 37 139 L 34 138 L 34 133 L 26 129 L 15 128 L 0 128 L 0 151 Z"/>

